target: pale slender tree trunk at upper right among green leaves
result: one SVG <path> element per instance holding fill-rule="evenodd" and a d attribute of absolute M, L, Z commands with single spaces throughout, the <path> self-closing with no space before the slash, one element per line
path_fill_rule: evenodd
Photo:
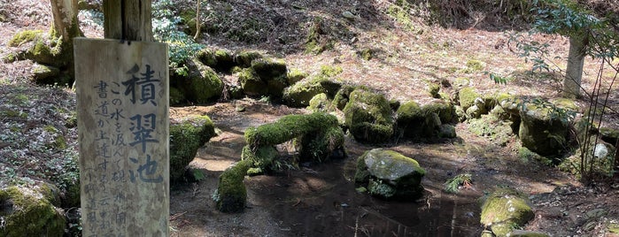
<path fill-rule="evenodd" d="M 586 53 L 586 34 L 569 37 L 568 68 L 563 79 L 563 93 L 569 97 L 580 97 L 580 84 L 583 79 L 584 56 Z"/>

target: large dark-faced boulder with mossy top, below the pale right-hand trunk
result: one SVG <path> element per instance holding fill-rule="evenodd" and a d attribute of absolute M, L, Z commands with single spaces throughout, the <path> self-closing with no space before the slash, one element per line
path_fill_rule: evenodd
<path fill-rule="evenodd" d="M 559 155 L 567 144 L 568 121 L 551 116 L 550 110 L 530 104 L 520 112 L 522 146 L 542 156 Z"/>

